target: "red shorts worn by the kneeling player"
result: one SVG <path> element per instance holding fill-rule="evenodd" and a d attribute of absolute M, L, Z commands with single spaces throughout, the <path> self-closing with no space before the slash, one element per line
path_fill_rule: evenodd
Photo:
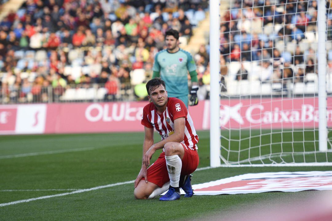
<path fill-rule="evenodd" d="M 197 150 L 192 150 L 189 147 L 186 147 L 183 143 L 181 144 L 185 149 L 185 154 L 182 159 L 181 175 L 188 175 L 197 169 L 199 157 Z M 144 177 L 142 180 L 144 180 Z M 159 187 L 162 187 L 169 181 L 165 152 L 162 152 L 158 159 L 149 168 L 147 168 L 147 181 L 154 183 Z"/>

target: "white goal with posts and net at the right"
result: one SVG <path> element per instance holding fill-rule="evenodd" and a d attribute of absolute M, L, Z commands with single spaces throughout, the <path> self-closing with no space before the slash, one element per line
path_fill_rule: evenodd
<path fill-rule="evenodd" d="M 212 4 L 219 4 L 220 34 L 210 36 L 211 82 L 220 83 L 211 84 L 210 103 L 220 112 L 211 111 L 211 166 L 329 165 L 329 1 L 212 0 L 211 17 Z M 218 55 L 214 41 L 220 45 Z M 220 75 L 213 76 L 218 69 Z M 220 106 L 215 104 L 219 99 Z M 214 142 L 216 128 L 220 134 Z"/>

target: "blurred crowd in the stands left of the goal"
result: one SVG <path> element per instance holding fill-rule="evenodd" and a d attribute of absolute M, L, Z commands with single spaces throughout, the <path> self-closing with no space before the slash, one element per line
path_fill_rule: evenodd
<path fill-rule="evenodd" d="M 57 101 L 98 83 L 113 100 L 131 88 L 130 71 L 151 78 L 168 28 L 188 40 L 206 9 L 206 0 L 28 0 L 0 23 L 0 96 L 46 102 L 51 86 Z"/>

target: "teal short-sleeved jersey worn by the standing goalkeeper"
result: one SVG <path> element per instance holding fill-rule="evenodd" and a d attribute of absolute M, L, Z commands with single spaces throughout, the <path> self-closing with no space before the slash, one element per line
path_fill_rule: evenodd
<path fill-rule="evenodd" d="M 188 71 L 196 72 L 195 61 L 188 51 L 159 51 L 154 58 L 152 70 L 160 73 L 169 97 L 188 96 Z"/>

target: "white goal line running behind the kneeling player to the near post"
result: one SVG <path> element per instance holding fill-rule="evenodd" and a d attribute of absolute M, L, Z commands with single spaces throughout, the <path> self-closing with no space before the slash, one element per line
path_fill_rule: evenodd
<path fill-rule="evenodd" d="M 196 169 L 196 171 L 207 170 L 207 169 L 210 169 L 210 168 L 211 167 L 202 167 L 202 168 Z M 41 196 L 41 197 L 37 197 L 37 198 L 30 198 L 30 199 L 23 199 L 23 200 L 18 200 L 18 201 L 13 201 L 13 202 L 1 203 L 0 207 L 14 205 L 14 204 L 23 203 L 23 202 L 35 201 L 35 200 L 38 200 L 38 199 L 47 199 L 47 198 L 52 198 L 52 197 L 57 197 L 57 196 L 71 195 L 71 194 L 75 194 L 75 193 L 84 193 L 84 192 L 99 190 L 99 189 L 108 188 L 108 187 L 115 187 L 115 186 L 120 186 L 120 185 L 124 185 L 124 184 L 131 184 L 131 183 L 134 183 L 134 182 L 135 182 L 134 180 L 131 180 L 131 181 L 126 181 L 126 182 L 121 182 L 121 183 L 115 183 L 115 184 L 109 184 L 109 185 L 105 185 L 105 186 L 94 187 L 94 188 L 90 188 L 90 189 L 77 190 L 77 191 L 73 191 L 73 192 L 69 192 L 69 193 L 59 193 L 59 194 L 55 194 L 55 195 Z"/>

